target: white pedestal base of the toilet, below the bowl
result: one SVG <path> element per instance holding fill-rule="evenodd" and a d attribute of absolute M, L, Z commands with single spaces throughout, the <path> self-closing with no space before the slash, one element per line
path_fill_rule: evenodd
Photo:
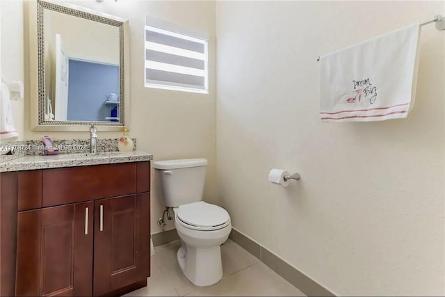
<path fill-rule="evenodd" d="M 195 286 L 211 286 L 223 278 L 220 246 L 181 246 L 177 252 L 181 271 Z"/>

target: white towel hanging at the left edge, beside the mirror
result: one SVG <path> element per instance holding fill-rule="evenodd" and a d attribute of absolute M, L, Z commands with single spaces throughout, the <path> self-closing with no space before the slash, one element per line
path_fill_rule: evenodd
<path fill-rule="evenodd" d="M 11 111 L 9 89 L 1 81 L 0 70 L 0 139 L 18 138 L 19 134 L 14 127 L 13 112 Z"/>

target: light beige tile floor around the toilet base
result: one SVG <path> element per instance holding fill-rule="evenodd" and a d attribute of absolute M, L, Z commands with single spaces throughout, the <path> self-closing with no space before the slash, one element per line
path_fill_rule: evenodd
<path fill-rule="evenodd" d="M 305 296 L 230 239 L 221 246 L 223 279 L 210 287 L 196 287 L 177 264 L 180 244 L 173 241 L 156 247 L 147 287 L 125 296 Z"/>

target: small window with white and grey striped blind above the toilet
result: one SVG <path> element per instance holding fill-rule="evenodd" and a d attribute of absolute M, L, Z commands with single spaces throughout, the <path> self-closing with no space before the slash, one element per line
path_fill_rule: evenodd
<path fill-rule="evenodd" d="M 145 86 L 209 93 L 207 36 L 147 17 Z"/>

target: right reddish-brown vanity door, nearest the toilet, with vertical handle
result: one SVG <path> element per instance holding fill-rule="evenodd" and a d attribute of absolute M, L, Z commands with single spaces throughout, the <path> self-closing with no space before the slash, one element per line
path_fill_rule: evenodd
<path fill-rule="evenodd" d="M 93 295 L 149 276 L 149 193 L 95 201 Z"/>

